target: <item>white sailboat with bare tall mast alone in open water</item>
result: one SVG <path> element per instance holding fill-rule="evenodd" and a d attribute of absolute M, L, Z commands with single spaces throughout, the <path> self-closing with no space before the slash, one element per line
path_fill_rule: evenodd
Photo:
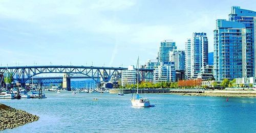
<path fill-rule="evenodd" d="M 150 100 L 148 98 L 143 98 L 139 96 L 139 57 L 138 57 L 138 61 L 137 61 L 137 95 L 136 97 L 133 97 L 132 94 L 132 105 L 133 107 L 151 107 L 150 105 Z"/>

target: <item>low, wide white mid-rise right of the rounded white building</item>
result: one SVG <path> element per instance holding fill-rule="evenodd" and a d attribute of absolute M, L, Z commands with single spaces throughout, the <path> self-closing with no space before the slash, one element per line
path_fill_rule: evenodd
<path fill-rule="evenodd" d="M 175 82 L 176 70 L 174 62 L 160 62 L 160 65 L 154 70 L 154 83 L 157 82 Z"/>

